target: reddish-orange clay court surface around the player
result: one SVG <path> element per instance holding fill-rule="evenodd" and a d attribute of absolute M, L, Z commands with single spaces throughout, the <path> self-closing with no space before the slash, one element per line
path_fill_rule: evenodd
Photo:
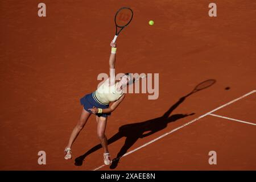
<path fill-rule="evenodd" d="M 45 18 L 37 14 L 40 1 L 0 2 L 1 170 L 256 170 L 255 1 L 43 2 Z M 217 17 L 208 16 L 211 2 Z M 113 19 L 122 6 L 134 19 L 117 39 L 116 72 L 159 73 L 159 98 L 127 94 L 108 118 L 112 159 L 131 152 L 118 165 L 102 166 L 96 147 L 76 166 L 100 143 L 92 115 L 73 159 L 64 159 L 80 98 L 109 71 Z M 180 100 L 208 79 L 216 83 Z M 46 165 L 38 164 L 38 151 L 46 151 Z M 209 165 L 209 151 L 217 152 L 217 165 Z"/>

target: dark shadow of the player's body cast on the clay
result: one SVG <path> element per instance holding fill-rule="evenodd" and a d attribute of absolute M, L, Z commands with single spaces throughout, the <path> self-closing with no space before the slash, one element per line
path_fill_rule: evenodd
<path fill-rule="evenodd" d="M 199 92 L 199 90 L 197 90 L 197 92 Z M 196 93 L 196 92 L 193 92 L 193 93 Z M 179 100 L 174 105 L 172 105 L 170 109 L 166 111 L 166 113 L 164 113 L 162 116 L 158 118 L 137 122 L 137 123 L 131 123 L 131 124 L 123 125 L 119 127 L 118 132 L 115 135 L 113 135 L 113 137 L 108 139 L 108 144 L 112 144 L 123 137 L 125 137 L 126 139 L 125 139 L 125 143 L 121 147 L 121 150 L 118 152 L 117 156 L 112 160 L 110 169 L 115 169 L 118 166 L 119 160 L 122 158 L 124 154 L 126 154 L 129 148 L 133 146 L 135 142 L 137 142 L 139 138 L 148 137 L 160 130 L 165 129 L 168 123 L 175 122 L 181 118 L 194 115 L 195 113 L 170 115 L 172 111 L 174 111 L 182 102 L 185 101 L 187 97 L 191 96 L 193 93 L 189 93 L 186 96 L 179 98 Z M 75 165 L 81 166 L 86 156 L 92 154 L 93 152 L 99 150 L 100 148 L 102 148 L 102 146 L 101 144 L 98 144 L 97 146 L 94 146 L 93 148 L 91 148 L 89 151 L 85 152 L 84 155 L 81 155 L 78 158 L 76 158 Z"/>

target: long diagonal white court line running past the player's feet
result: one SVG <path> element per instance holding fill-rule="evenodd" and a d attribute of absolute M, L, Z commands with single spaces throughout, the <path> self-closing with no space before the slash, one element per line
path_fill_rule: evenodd
<path fill-rule="evenodd" d="M 242 98 L 247 97 L 247 96 L 249 96 L 250 94 L 252 94 L 252 93 L 254 93 L 254 92 L 256 92 L 256 90 L 253 90 L 253 91 L 251 91 L 251 92 L 249 92 L 249 93 L 246 93 L 245 95 L 243 95 L 243 96 L 241 96 L 241 97 L 238 97 L 238 98 L 234 99 L 233 101 L 228 102 L 227 104 L 224 104 L 224 105 L 222 105 L 222 106 L 220 106 L 220 107 L 217 107 L 216 109 L 213 109 L 213 110 L 209 111 L 208 113 L 205 113 L 205 114 L 203 114 L 203 115 L 200 115 L 200 117 L 198 117 L 198 118 L 196 118 L 196 119 L 193 119 L 192 121 L 189 121 L 188 123 L 185 123 L 184 125 L 181 125 L 181 126 L 177 127 L 176 129 L 171 130 L 171 131 L 169 131 L 168 133 L 163 134 L 163 135 L 161 135 L 160 137 L 155 138 L 154 140 L 151 140 L 150 142 L 147 142 L 147 143 L 143 144 L 142 146 L 140 146 L 140 147 L 138 147 L 138 148 L 135 148 L 134 150 L 132 150 L 132 151 L 130 151 L 130 152 L 127 152 L 127 153 L 126 153 L 125 155 L 123 155 L 121 158 L 123 158 L 124 156 L 129 155 L 129 154 L 131 154 L 131 153 L 133 153 L 133 152 L 135 152 L 135 151 L 137 151 L 137 150 L 139 150 L 139 149 L 141 149 L 141 148 L 147 146 L 147 145 L 150 144 L 150 143 L 155 142 L 156 140 L 159 140 L 160 138 L 166 137 L 166 135 L 168 135 L 168 134 L 174 133 L 174 131 L 177 131 L 177 130 L 179 130 L 179 129 L 181 129 L 181 128 L 187 126 L 187 125 L 190 125 L 191 123 L 193 123 L 193 122 L 195 122 L 195 121 L 197 121 L 197 120 L 199 120 L 199 119 L 201 119 L 201 118 L 203 118 L 203 117 L 205 117 L 205 116 L 207 116 L 207 115 L 213 113 L 213 112 L 216 111 L 216 110 L 219 110 L 219 109 L 221 109 L 221 108 L 223 108 L 223 107 L 225 107 L 225 106 L 227 106 L 227 105 L 230 105 L 230 104 L 232 104 L 233 102 L 236 102 L 236 101 L 238 101 L 238 100 L 241 100 Z M 102 165 L 102 166 L 100 166 L 100 167 L 97 167 L 97 168 L 93 169 L 93 171 L 96 171 L 96 170 L 98 170 L 98 169 L 100 169 L 100 168 L 102 168 L 102 167 L 104 167 L 104 166 L 106 166 L 106 165 Z"/>

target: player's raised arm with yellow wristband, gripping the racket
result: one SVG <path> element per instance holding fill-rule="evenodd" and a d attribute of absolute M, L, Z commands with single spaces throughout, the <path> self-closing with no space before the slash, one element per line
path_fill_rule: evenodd
<path fill-rule="evenodd" d="M 111 53 L 109 57 L 109 85 L 112 86 L 115 84 L 115 52 L 117 51 L 117 44 L 111 42 L 110 43 L 111 48 Z"/>

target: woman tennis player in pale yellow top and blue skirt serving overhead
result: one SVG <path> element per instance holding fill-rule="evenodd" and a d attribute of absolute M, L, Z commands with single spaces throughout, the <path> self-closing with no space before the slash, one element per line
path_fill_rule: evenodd
<path fill-rule="evenodd" d="M 110 46 L 112 47 L 109 57 L 110 78 L 108 78 L 95 92 L 86 94 L 80 99 L 83 109 L 79 122 L 73 129 L 68 145 L 65 148 L 65 159 L 72 158 L 71 146 L 73 142 L 79 135 L 90 115 L 95 114 L 97 121 L 97 135 L 104 149 L 104 163 L 106 165 L 111 163 L 108 151 L 108 139 L 105 136 L 106 122 L 108 115 L 110 115 L 125 98 L 123 88 L 132 83 L 134 79 L 129 73 L 126 73 L 119 79 L 119 81 L 115 82 L 114 68 L 117 47 L 113 42 L 110 43 Z M 110 102 L 113 104 L 109 106 Z"/>

